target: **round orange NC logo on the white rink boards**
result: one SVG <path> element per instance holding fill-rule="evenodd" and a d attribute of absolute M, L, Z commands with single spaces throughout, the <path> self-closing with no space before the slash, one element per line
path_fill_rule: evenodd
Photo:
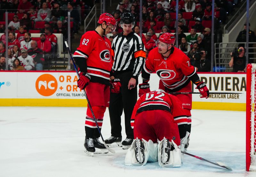
<path fill-rule="evenodd" d="M 42 96 L 53 95 L 58 88 L 58 82 L 51 74 L 43 74 L 36 80 L 36 91 Z"/>

